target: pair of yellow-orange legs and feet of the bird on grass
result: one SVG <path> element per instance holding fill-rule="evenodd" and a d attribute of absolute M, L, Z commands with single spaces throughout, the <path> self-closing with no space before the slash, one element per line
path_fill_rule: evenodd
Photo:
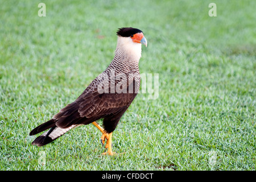
<path fill-rule="evenodd" d="M 115 154 L 115 152 L 112 152 L 112 133 L 108 134 L 104 131 L 104 129 L 97 123 L 97 122 L 92 122 L 94 126 L 97 127 L 97 129 L 99 129 L 102 133 L 102 136 L 101 136 L 101 143 L 102 145 L 105 143 L 105 139 L 107 140 L 106 141 L 106 146 L 105 148 L 108 148 L 108 152 L 104 152 L 102 154 L 106 155 L 106 154 L 109 154 L 109 155 L 113 155 Z"/>

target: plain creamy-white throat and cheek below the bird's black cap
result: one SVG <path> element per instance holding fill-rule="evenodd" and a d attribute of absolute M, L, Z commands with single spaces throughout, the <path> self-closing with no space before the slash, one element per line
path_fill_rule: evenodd
<path fill-rule="evenodd" d="M 141 58 L 141 44 L 135 43 L 130 37 L 117 37 L 117 48 L 115 51 L 123 51 L 129 56 L 137 58 L 138 60 Z"/>

